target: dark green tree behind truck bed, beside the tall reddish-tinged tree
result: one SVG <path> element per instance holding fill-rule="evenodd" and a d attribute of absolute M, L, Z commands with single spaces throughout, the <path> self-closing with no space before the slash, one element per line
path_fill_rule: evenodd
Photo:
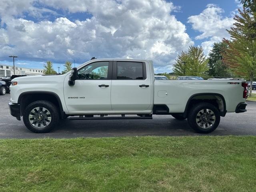
<path fill-rule="evenodd" d="M 210 76 L 219 76 L 219 77 L 231 76 L 228 66 L 224 64 L 224 62 L 222 61 L 223 59 L 222 54 L 224 53 L 227 46 L 228 44 L 226 44 L 225 42 L 214 43 L 208 57 L 209 59 L 208 74 Z"/>

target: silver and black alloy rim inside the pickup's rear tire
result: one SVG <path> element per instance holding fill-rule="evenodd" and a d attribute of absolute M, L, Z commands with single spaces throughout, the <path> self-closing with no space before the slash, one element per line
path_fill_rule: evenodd
<path fill-rule="evenodd" d="M 203 129 L 208 129 L 213 126 L 215 119 L 215 114 L 210 109 L 202 109 L 196 115 L 196 123 Z"/>

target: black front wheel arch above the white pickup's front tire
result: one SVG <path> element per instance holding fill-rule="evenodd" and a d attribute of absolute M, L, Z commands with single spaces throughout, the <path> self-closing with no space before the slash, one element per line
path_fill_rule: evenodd
<path fill-rule="evenodd" d="M 34 102 L 36 100 L 47 100 L 52 102 L 58 107 L 60 117 L 63 119 L 66 116 L 60 97 L 56 93 L 50 91 L 28 91 L 20 94 L 18 98 L 18 103 L 20 104 L 20 115 L 22 116 L 22 111 L 28 103 Z"/>

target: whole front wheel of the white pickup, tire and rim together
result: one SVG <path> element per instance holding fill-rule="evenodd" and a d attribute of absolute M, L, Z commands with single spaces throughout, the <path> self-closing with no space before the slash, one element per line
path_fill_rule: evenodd
<path fill-rule="evenodd" d="M 47 133 L 59 121 L 57 107 L 48 101 L 38 100 L 30 103 L 23 112 L 23 122 L 35 133 Z"/>

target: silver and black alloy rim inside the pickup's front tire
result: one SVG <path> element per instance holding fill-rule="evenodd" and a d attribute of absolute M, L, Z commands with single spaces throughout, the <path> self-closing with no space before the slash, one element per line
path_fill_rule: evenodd
<path fill-rule="evenodd" d="M 29 113 L 29 121 L 36 128 L 45 128 L 52 120 L 50 111 L 44 107 L 36 107 Z"/>

